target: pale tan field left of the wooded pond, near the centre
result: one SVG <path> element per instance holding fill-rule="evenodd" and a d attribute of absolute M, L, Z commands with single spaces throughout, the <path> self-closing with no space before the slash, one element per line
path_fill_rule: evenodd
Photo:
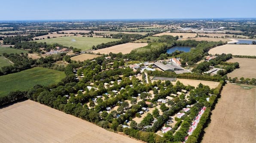
<path fill-rule="evenodd" d="M 109 54 L 110 52 L 117 54 L 122 52 L 122 54 L 128 54 L 132 50 L 140 47 L 144 47 L 146 45 L 148 44 L 147 43 L 125 43 L 125 44 L 119 44 L 119 45 L 104 48 L 104 49 L 94 50 L 92 52 L 101 53 L 101 54 Z"/>

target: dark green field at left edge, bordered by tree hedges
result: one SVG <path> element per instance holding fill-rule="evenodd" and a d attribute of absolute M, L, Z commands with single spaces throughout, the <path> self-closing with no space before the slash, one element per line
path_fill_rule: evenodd
<path fill-rule="evenodd" d="M 27 90 L 34 85 L 49 85 L 58 83 L 65 77 L 65 73 L 43 67 L 34 67 L 18 73 L 0 76 L 0 96 L 10 91 Z"/>

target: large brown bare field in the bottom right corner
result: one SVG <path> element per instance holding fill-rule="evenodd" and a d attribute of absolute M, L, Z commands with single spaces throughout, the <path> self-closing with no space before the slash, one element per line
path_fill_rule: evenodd
<path fill-rule="evenodd" d="M 223 87 L 202 143 L 256 142 L 256 86 L 250 87 L 244 89 L 231 83 Z"/>

